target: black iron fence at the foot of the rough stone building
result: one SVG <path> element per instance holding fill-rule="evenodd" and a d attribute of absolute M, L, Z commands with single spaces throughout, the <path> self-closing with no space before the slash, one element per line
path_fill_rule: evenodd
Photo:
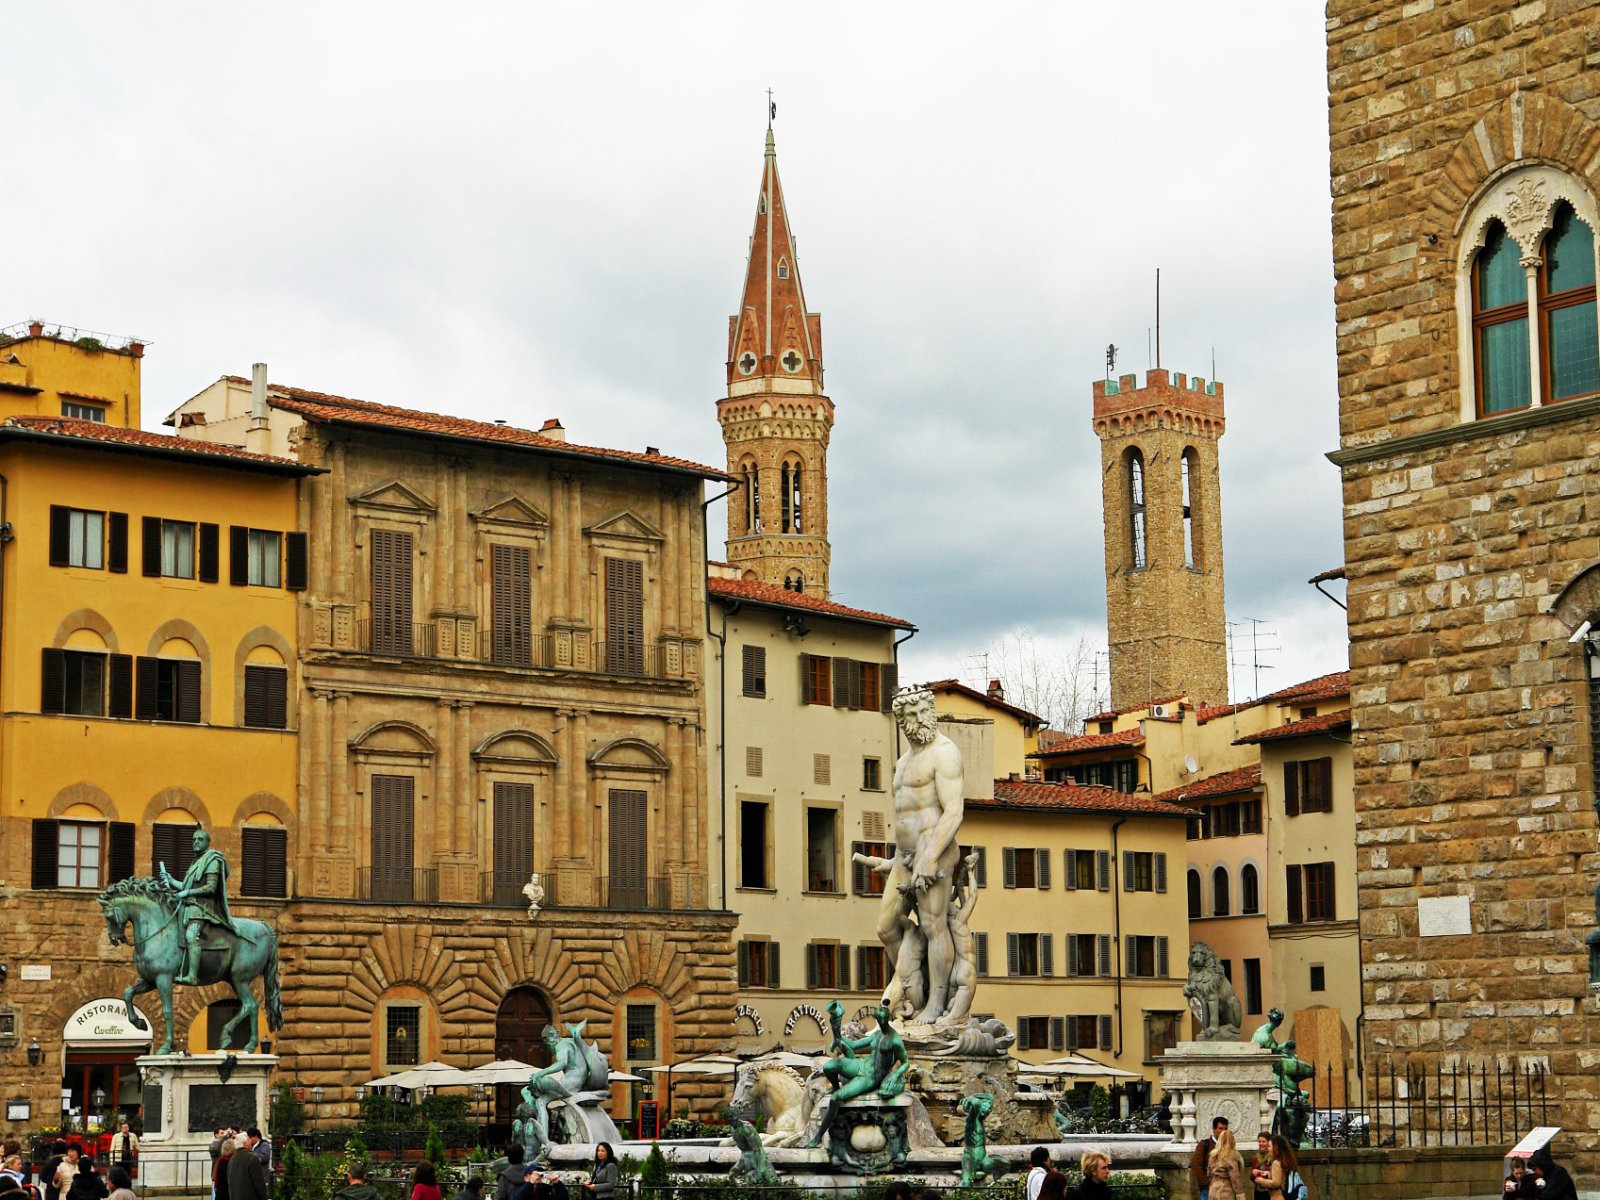
<path fill-rule="evenodd" d="M 1349 1096 L 1330 1066 L 1310 1077 L 1302 1146 L 1496 1146 L 1549 1125 L 1547 1070 L 1539 1059 L 1370 1064 L 1370 1096 Z"/>

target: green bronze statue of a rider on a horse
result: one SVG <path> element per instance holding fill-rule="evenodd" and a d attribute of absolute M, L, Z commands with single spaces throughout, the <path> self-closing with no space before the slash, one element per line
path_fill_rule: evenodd
<path fill-rule="evenodd" d="M 133 997 L 158 992 L 166 1038 L 157 1054 L 173 1053 L 173 987 L 206 987 L 227 982 L 238 997 L 238 1016 L 222 1027 L 221 1050 L 234 1045 L 234 1032 L 248 1030 L 245 1051 L 261 1043 L 261 1026 L 251 984 L 262 981 L 267 1027 L 283 1027 L 283 997 L 278 992 L 278 938 L 272 926 L 235 918 L 227 909 L 227 859 L 211 848 L 211 837 L 195 829 L 195 859 L 182 880 L 174 880 L 165 864 L 154 877 L 118 880 L 98 899 L 106 914 L 112 946 L 133 944 L 133 970 L 139 981 L 123 992 L 128 1021 L 147 1029 L 133 1006 Z M 126 938 L 128 925 L 133 936 Z"/>

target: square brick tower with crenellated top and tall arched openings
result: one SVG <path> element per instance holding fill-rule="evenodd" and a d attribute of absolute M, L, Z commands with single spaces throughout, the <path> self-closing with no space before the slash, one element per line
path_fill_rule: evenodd
<path fill-rule="evenodd" d="M 1146 374 L 1094 384 L 1114 707 L 1186 694 L 1227 702 L 1222 384 Z"/>

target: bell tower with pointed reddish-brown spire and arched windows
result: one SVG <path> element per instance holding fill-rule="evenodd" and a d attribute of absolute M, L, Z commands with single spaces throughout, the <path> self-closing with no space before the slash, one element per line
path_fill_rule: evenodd
<path fill-rule="evenodd" d="M 717 421 L 728 474 L 742 485 L 728 498 L 728 562 L 746 579 L 826 598 L 834 402 L 822 392 L 822 318 L 805 307 L 770 120 Z"/>

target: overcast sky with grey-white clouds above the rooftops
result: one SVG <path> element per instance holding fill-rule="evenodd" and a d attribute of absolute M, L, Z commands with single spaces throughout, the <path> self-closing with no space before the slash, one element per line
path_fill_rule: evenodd
<path fill-rule="evenodd" d="M 765 136 L 906 678 L 1104 642 L 1107 342 L 1227 389 L 1235 696 L 1346 666 L 1320 6 L 8 5 L 0 323 L 722 464 Z M 720 554 L 720 517 L 712 552 Z"/>

